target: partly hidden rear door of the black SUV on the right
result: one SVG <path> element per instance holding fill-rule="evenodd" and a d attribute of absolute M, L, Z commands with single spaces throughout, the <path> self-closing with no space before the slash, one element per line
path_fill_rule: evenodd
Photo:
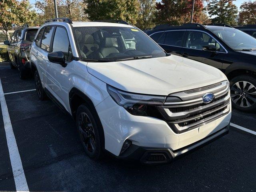
<path fill-rule="evenodd" d="M 186 30 L 171 30 L 166 31 L 158 40 L 158 44 L 170 54 L 180 56 L 182 43 Z"/>

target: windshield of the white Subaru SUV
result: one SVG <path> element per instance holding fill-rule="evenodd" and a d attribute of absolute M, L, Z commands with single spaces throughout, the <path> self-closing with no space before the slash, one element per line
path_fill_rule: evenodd
<path fill-rule="evenodd" d="M 76 47 L 82 60 L 117 61 L 166 56 L 143 32 L 130 27 L 74 27 Z"/>

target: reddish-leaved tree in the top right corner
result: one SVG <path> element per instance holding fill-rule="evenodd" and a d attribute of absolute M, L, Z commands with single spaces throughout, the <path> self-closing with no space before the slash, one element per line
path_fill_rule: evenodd
<path fill-rule="evenodd" d="M 256 1 L 244 2 L 240 6 L 238 24 L 256 24 Z"/>

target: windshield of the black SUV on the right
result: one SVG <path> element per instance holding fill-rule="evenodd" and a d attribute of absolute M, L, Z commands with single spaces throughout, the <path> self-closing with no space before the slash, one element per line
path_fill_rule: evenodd
<path fill-rule="evenodd" d="M 234 28 L 210 29 L 228 46 L 235 50 L 250 50 L 256 48 L 256 39 Z"/>

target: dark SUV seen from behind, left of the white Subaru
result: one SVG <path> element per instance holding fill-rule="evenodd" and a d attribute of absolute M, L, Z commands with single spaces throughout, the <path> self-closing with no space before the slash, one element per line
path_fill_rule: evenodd
<path fill-rule="evenodd" d="M 11 42 L 4 41 L 8 45 L 8 55 L 10 59 L 10 67 L 18 68 L 20 78 L 24 79 L 30 72 L 29 51 L 36 32 L 39 27 L 29 27 L 24 25 L 17 28 L 11 38 Z"/>

